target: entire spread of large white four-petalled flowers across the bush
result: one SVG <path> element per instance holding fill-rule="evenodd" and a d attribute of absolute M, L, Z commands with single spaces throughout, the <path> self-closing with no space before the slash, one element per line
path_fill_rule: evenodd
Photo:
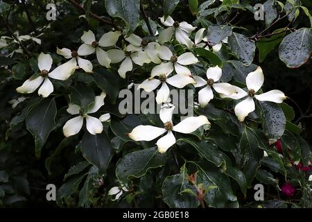
<path fill-rule="evenodd" d="M 188 84 L 193 84 L 195 87 L 202 87 L 198 92 L 198 102 L 204 108 L 211 99 L 214 99 L 213 89 L 219 94 L 221 98 L 228 99 L 244 99 L 239 102 L 235 108 L 235 114 L 239 121 L 244 121 L 245 117 L 255 109 L 254 98 L 259 101 L 272 101 L 281 103 L 286 96 L 279 90 L 272 90 L 263 94 L 257 94 L 263 85 L 263 73 L 261 67 L 256 71 L 251 72 L 246 77 L 246 85 L 248 92 L 231 85 L 229 83 L 217 83 L 222 76 L 222 69 L 218 66 L 209 67 L 207 69 L 207 79 L 200 76 L 193 75 L 189 69 L 189 65 L 199 62 L 197 55 L 193 54 L 193 48 L 205 48 L 209 50 L 205 28 L 200 28 L 196 35 L 194 42 L 190 38 L 190 34 L 196 30 L 197 27 L 191 26 L 187 22 L 174 21 L 170 16 L 166 19 L 160 18 L 164 26 L 168 28 L 159 33 L 158 40 L 149 42 L 142 39 L 138 35 L 131 34 L 124 37 L 128 45 L 120 49 L 116 46 L 119 37 L 122 35 L 121 31 L 110 31 L 105 33 L 98 42 L 92 31 L 83 33 L 81 40 L 83 44 L 78 48 L 78 51 L 71 51 L 70 49 L 57 49 L 57 53 L 69 59 L 69 61 L 56 67 L 50 72 L 53 60 L 49 54 L 40 53 L 38 58 L 38 67 L 40 75 L 35 75 L 26 80 L 26 82 L 17 88 L 20 93 L 32 93 L 39 87 L 38 94 L 43 97 L 49 96 L 53 92 L 53 84 L 50 78 L 57 80 L 66 80 L 73 74 L 77 68 L 83 69 L 87 73 L 92 73 L 92 62 L 82 58 L 82 56 L 89 56 L 96 53 L 98 63 L 106 68 L 110 68 L 111 64 L 119 63 L 118 73 L 121 78 L 125 78 L 128 71 L 132 71 L 133 65 L 143 66 L 146 63 L 153 62 L 155 67 L 151 70 L 150 78 L 144 80 L 138 89 L 144 89 L 146 92 L 152 92 L 159 85 L 161 85 L 157 92 L 156 102 L 159 104 L 167 103 L 169 99 L 170 89 L 168 85 L 176 88 L 185 87 Z M 165 44 L 174 39 L 187 46 L 188 52 L 181 55 L 176 55 Z M 222 40 L 227 43 L 227 38 Z M 212 47 L 214 52 L 220 51 L 222 42 Z M 97 112 L 102 105 L 104 105 L 105 92 L 100 96 L 96 96 L 95 103 L 92 108 L 89 108 L 87 113 L 83 113 L 80 107 L 76 104 L 69 104 L 67 112 L 70 114 L 79 114 L 67 121 L 64 125 L 63 132 L 66 137 L 77 134 L 83 126 L 83 121 L 86 119 L 87 130 L 89 133 L 95 135 L 103 131 L 101 121 L 110 119 L 109 114 L 102 115 L 99 119 L 89 116 L 89 114 Z M 137 126 L 132 130 L 129 136 L 135 141 L 150 141 L 167 133 L 164 137 L 158 139 L 157 146 L 161 153 L 166 152 L 173 144 L 175 144 L 175 136 L 172 131 L 178 133 L 192 133 L 200 126 L 210 124 L 207 117 L 189 117 L 184 119 L 177 125 L 173 126 L 172 114 L 173 105 L 164 107 L 159 113 L 160 119 L 164 123 L 164 128 L 155 126 Z"/>

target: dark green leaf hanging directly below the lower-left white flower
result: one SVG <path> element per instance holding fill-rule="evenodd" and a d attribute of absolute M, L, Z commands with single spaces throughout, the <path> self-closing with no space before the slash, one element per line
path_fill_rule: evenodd
<path fill-rule="evenodd" d="M 113 155 L 112 144 L 107 135 L 104 132 L 96 135 L 85 133 L 81 147 L 83 157 L 104 173 Z"/>

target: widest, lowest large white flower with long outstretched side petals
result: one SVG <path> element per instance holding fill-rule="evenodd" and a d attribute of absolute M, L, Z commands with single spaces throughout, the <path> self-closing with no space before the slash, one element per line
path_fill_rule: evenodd
<path fill-rule="evenodd" d="M 159 112 L 159 117 L 164 123 L 164 128 L 159 128 L 156 126 L 140 125 L 135 127 L 129 137 L 135 141 L 151 141 L 160 135 L 167 133 L 164 137 L 157 140 L 157 147 L 159 153 L 164 153 L 175 144 L 175 136 L 172 131 L 178 133 L 192 133 L 197 130 L 200 126 L 205 124 L 210 124 L 207 117 L 187 117 L 183 119 L 180 123 L 173 126 L 172 114 L 174 106 L 171 108 L 162 108 Z"/>

